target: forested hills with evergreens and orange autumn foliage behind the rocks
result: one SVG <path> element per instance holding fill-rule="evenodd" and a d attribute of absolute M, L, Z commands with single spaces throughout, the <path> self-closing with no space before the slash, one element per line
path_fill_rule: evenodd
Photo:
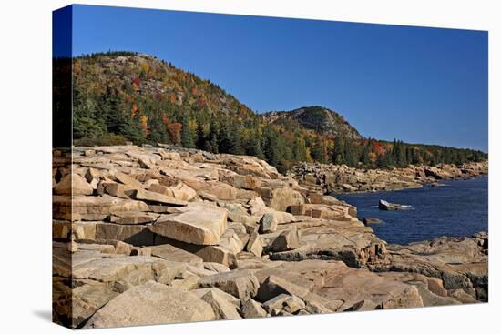
<path fill-rule="evenodd" d="M 55 83 L 71 71 L 66 64 L 54 60 Z M 469 149 L 363 138 L 343 116 L 319 106 L 260 116 L 210 80 L 153 56 L 78 56 L 72 68 L 75 145 L 171 143 L 261 157 L 281 171 L 297 161 L 390 167 L 486 159 Z M 55 115 L 64 106 L 57 100 L 65 90 L 58 88 Z"/>

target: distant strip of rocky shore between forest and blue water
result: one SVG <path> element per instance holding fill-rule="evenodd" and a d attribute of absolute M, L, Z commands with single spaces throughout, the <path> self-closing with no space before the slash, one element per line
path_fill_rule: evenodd
<path fill-rule="evenodd" d="M 308 187 L 324 194 L 402 190 L 424 185 L 439 186 L 441 180 L 466 179 L 488 174 L 488 161 L 461 166 L 437 165 L 386 169 L 359 169 L 345 165 L 300 163 L 287 173 Z"/>

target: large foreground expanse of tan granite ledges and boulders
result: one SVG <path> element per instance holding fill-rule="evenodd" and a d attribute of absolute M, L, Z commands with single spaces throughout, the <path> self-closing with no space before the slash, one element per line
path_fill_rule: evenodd
<path fill-rule="evenodd" d="M 54 319 L 107 328 L 488 299 L 486 233 L 388 245 L 324 195 L 343 180 L 294 177 L 179 147 L 55 150 Z"/>

